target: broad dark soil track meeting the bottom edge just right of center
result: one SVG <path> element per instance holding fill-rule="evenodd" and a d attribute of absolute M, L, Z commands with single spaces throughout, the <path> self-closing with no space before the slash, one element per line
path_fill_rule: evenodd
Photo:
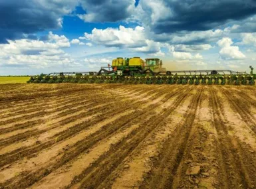
<path fill-rule="evenodd" d="M 202 92 L 203 88 L 199 86 L 199 90 L 194 95 L 188 112 L 184 116 L 186 119 L 180 127 L 176 128 L 171 139 L 164 143 L 159 159 L 153 162 L 154 168 L 150 175 L 144 178 L 140 188 L 172 188 L 173 180 L 182 161 L 192 131 L 195 113 Z"/>

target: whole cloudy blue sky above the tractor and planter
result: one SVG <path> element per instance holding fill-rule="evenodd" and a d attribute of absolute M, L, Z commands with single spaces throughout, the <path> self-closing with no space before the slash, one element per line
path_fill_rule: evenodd
<path fill-rule="evenodd" d="M 0 75 L 98 71 L 134 56 L 249 72 L 255 52 L 255 0 L 0 1 Z"/>

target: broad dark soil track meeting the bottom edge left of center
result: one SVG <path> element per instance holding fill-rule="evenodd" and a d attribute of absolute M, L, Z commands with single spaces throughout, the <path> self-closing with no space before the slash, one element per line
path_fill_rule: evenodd
<path fill-rule="evenodd" d="M 144 139 L 150 135 L 155 129 L 164 124 L 164 120 L 170 113 L 172 113 L 176 107 L 184 101 L 186 96 L 192 89 L 187 88 L 186 92 L 179 93 L 180 95 L 176 99 L 171 107 L 164 109 L 160 114 L 153 115 L 150 119 L 140 122 L 140 127 L 134 130 L 126 139 L 120 141 L 120 143 L 113 145 L 108 151 L 96 160 L 92 166 L 86 168 L 82 174 L 76 176 L 72 181 L 72 185 L 80 181 L 79 188 L 97 188 L 102 182 L 108 179 L 110 173 L 115 170 L 118 165 L 126 158 Z M 167 100 L 166 100 L 167 101 Z M 166 102 L 164 101 L 164 103 Z M 72 186 L 71 185 L 71 186 Z M 68 186 L 70 187 L 70 186 Z"/>

